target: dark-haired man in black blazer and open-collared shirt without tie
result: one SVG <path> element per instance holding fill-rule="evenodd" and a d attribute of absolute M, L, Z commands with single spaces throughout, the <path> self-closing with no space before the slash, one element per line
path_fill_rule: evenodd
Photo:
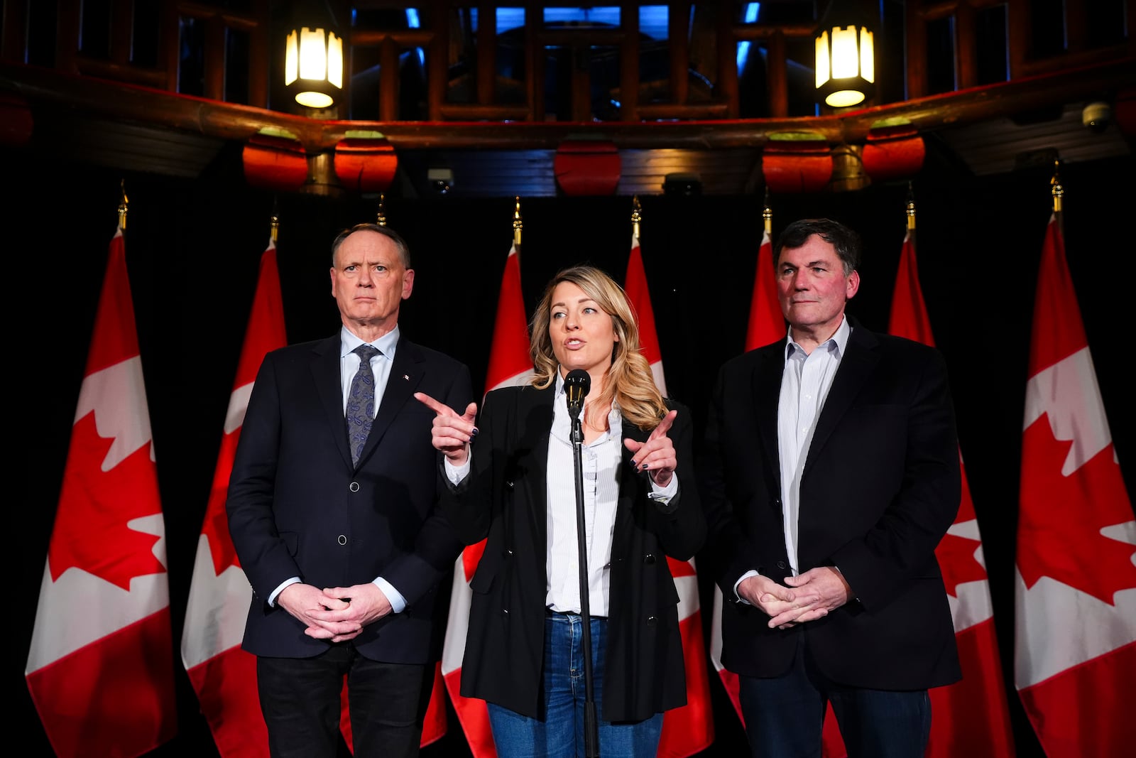
<path fill-rule="evenodd" d="M 754 757 L 922 758 L 927 689 L 961 676 L 935 547 L 961 493 L 941 355 L 844 313 L 859 235 L 790 224 L 774 260 L 788 335 L 727 361 L 707 426 L 709 563 Z M 733 602 L 730 602 L 733 600 Z"/>

